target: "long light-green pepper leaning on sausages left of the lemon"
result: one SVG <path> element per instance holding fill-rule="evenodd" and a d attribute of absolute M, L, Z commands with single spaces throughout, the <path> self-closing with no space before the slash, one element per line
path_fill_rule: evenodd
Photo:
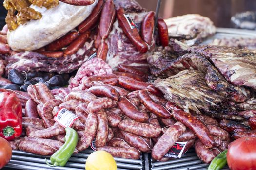
<path fill-rule="evenodd" d="M 77 146 L 78 133 L 70 127 L 66 128 L 65 131 L 65 143 L 51 156 L 51 164 L 49 164 L 47 159 L 45 159 L 46 164 L 51 167 L 64 167 Z"/>

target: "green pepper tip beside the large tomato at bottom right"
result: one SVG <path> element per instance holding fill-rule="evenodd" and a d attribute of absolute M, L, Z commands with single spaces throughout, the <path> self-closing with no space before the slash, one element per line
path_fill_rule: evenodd
<path fill-rule="evenodd" d="M 219 170 L 227 164 L 227 152 L 228 150 L 219 153 L 211 162 L 207 170 Z"/>

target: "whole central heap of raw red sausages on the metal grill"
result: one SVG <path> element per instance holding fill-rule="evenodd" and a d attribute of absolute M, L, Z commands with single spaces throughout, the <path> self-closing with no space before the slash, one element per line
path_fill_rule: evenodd
<path fill-rule="evenodd" d="M 227 148 L 229 133 L 215 119 L 184 112 L 146 80 L 146 72 L 119 65 L 113 74 L 86 77 L 85 90 L 72 91 L 62 100 L 43 83 L 30 85 L 22 123 L 27 137 L 12 141 L 13 149 L 39 155 L 56 152 L 65 136 L 53 120 L 60 108 L 78 116 L 72 125 L 79 135 L 75 153 L 95 139 L 97 150 L 114 157 L 138 159 L 147 152 L 167 161 L 164 155 L 175 142 L 185 141 L 185 151 L 195 144 L 198 157 L 209 163 Z"/>

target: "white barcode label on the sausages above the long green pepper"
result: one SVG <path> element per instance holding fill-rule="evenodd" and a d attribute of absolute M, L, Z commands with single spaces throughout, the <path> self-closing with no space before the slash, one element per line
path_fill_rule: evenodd
<path fill-rule="evenodd" d="M 54 121 L 58 122 L 63 128 L 71 127 L 74 121 L 78 119 L 77 115 L 71 111 L 60 108 L 57 114 L 54 117 Z"/>

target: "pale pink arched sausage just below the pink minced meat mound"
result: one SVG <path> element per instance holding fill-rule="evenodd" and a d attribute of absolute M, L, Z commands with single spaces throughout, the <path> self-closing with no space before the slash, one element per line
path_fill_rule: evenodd
<path fill-rule="evenodd" d="M 92 102 L 93 100 L 97 99 L 97 97 L 90 93 L 90 92 L 87 92 L 87 91 L 75 91 L 75 92 L 71 92 L 69 93 L 65 98 L 64 98 L 64 102 L 66 101 L 69 101 L 69 100 L 72 100 L 72 99 L 77 99 L 81 102 L 86 102 L 86 103 L 89 103 L 89 102 Z"/>

